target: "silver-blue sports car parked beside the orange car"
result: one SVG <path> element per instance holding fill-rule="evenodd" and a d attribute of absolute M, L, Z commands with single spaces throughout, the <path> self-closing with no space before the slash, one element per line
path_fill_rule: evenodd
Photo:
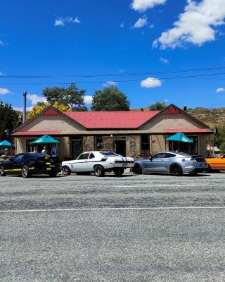
<path fill-rule="evenodd" d="M 182 152 L 160 152 L 149 159 L 135 161 L 133 171 L 141 173 L 170 173 L 181 176 L 183 173 L 196 175 L 207 169 L 207 162 L 201 156 Z"/>

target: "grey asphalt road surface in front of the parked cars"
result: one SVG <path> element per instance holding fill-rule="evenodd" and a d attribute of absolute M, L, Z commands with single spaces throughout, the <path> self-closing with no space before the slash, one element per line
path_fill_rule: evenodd
<path fill-rule="evenodd" d="M 224 180 L 0 178 L 0 281 L 225 281 Z"/>

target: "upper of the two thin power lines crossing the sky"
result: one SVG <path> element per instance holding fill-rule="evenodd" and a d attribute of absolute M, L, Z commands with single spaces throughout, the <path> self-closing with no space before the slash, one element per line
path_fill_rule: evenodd
<path fill-rule="evenodd" d="M 0 78 L 96 78 L 96 77 L 113 77 L 113 76 L 130 76 L 130 75 L 158 75 L 167 73 L 188 73 L 195 71 L 219 71 L 224 70 L 224 67 L 213 68 L 191 68 L 175 71 L 149 71 L 138 73 L 103 73 L 103 74 L 88 74 L 88 75 L 0 75 Z"/>

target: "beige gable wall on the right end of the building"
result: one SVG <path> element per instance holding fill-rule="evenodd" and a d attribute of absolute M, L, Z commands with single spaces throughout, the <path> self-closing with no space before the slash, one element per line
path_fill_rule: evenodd
<path fill-rule="evenodd" d="M 151 129 L 151 130 L 167 130 L 180 128 L 204 128 L 202 125 L 193 121 L 184 114 L 162 114 L 155 118 L 153 121 L 141 126 L 140 129 Z M 159 131 L 160 132 L 160 131 Z"/>

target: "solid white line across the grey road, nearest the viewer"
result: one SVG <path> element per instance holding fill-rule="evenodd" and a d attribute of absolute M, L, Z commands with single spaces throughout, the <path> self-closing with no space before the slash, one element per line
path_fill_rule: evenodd
<path fill-rule="evenodd" d="M 3 213 L 23 213 L 23 212 L 82 212 L 82 211 L 120 211 L 120 210 L 160 210 L 160 209 L 225 209 L 221 207 L 94 207 L 77 209 L 9 209 L 0 211 Z"/>

